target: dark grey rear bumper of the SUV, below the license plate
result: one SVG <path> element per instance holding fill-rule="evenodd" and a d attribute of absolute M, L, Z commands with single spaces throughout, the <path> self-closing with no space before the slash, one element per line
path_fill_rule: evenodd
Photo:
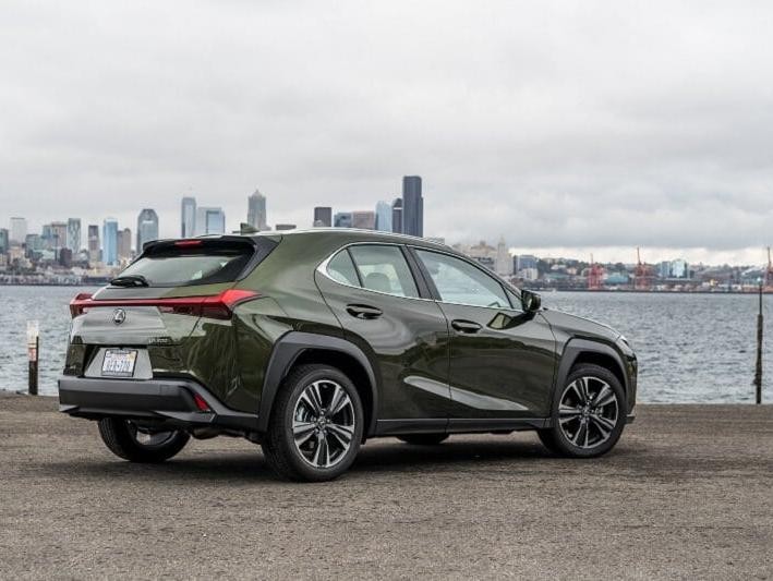
<path fill-rule="evenodd" d="M 198 411 L 194 394 L 210 411 Z M 244 433 L 257 432 L 257 414 L 226 408 L 190 379 L 59 378 L 59 411 L 89 420 L 123 416 L 180 427 L 212 426 Z"/>

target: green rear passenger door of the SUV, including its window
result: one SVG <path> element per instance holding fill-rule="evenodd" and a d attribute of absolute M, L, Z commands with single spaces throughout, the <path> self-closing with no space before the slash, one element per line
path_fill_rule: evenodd
<path fill-rule="evenodd" d="M 375 363 L 379 432 L 445 431 L 448 325 L 424 280 L 414 278 L 404 246 L 349 245 L 319 266 L 316 279 L 345 337 Z"/>

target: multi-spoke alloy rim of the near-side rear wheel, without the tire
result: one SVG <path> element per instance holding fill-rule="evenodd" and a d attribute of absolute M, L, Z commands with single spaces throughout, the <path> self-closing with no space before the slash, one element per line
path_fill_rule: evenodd
<path fill-rule="evenodd" d="M 330 468 L 340 462 L 354 435 L 354 407 L 343 387 L 329 379 L 306 386 L 295 402 L 292 435 L 310 465 Z"/>

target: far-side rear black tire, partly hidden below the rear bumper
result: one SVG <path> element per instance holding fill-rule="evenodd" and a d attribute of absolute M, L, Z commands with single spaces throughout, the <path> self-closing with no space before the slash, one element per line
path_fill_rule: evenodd
<path fill-rule="evenodd" d="M 191 439 L 184 432 L 173 431 L 148 435 L 149 440 L 143 443 L 137 435 L 144 433 L 144 428 L 137 428 L 129 420 L 99 420 L 99 435 L 105 445 L 112 453 L 130 462 L 164 462 L 182 450 Z M 158 441 L 154 443 L 154 437 Z"/>

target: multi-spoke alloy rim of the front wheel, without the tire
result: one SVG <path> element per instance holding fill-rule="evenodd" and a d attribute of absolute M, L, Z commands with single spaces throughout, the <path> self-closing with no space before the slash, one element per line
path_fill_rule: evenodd
<path fill-rule="evenodd" d="M 558 422 L 567 439 L 580 448 L 595 448 L 612 436 L 619 414 L 615 390 L 593 376 L 570 383 L 561 394 Z"/>

